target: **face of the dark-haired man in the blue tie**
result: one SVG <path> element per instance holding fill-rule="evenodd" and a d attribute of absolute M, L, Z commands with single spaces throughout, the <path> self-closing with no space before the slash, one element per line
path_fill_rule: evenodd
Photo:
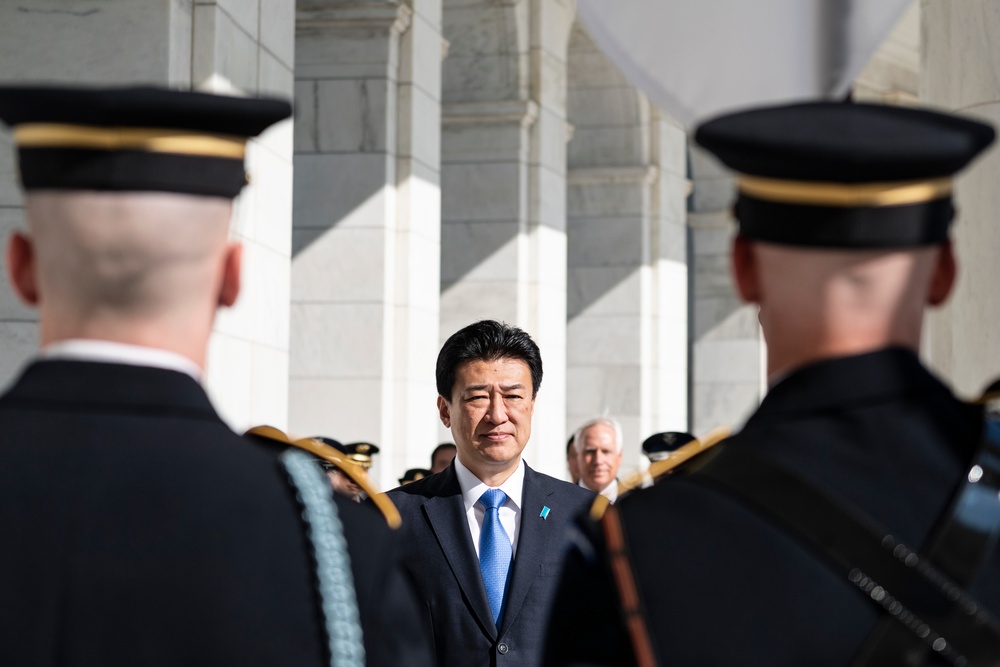
<path fill-rule="evenodd" d="M 534 409 L 531 370 L 520 359 L 465 362 L 455 373 L 450 399 L 438 397 L 458 458 L 480 478 L 517 464 Z"/>

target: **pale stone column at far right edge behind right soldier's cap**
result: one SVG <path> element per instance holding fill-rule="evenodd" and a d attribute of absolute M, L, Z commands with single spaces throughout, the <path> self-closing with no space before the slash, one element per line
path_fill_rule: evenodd
<path fill-rule="evenodd" d="M 989 0 L 922 0 L 922 103 L 1000 127 L 1000 13 Z M 958 284 L 925 332 L 929 361 L 968 396 L 1000 375 L 1000 153 L 994 145 L 958 179 L 952 238 Z"/>

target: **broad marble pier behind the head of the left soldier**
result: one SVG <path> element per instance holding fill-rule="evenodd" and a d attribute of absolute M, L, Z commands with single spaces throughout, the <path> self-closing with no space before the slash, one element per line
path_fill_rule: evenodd
<path fill-rule="evenodd" d="M 0 6 L 0 79 L 157 84 L 227 94 L 291 96 L 294 17 L 288 0 L 22 0 Z M 22 224 L 9 134 L 0 132 L 0 227 Z M 291 121 L 252 141 L 252 185 L 236 201 L 245 245 L 243 292 L 220 313 L 206 384 L 234 428 L 284 426 L 288 374 Z M 0 380 L 37 345 L 33 311 L 0 289 Z"/>

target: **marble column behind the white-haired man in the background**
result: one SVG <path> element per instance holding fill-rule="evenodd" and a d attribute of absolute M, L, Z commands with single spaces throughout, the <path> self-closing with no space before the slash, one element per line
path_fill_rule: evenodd
<path fill-rule="evenodd" d="M 579 23 L 569 48 L 567 426 L 622 422 L 640 444 L 688 425 L 686 136 Z"/>

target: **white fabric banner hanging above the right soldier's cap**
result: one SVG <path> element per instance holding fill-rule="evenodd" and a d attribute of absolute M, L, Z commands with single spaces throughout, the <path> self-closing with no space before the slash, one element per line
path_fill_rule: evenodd
<path fill-rule="evenodd" d="M 911 0 L 578 0 L 594 41 L 687 126 L 769 102 L 836 99 Z"/>

